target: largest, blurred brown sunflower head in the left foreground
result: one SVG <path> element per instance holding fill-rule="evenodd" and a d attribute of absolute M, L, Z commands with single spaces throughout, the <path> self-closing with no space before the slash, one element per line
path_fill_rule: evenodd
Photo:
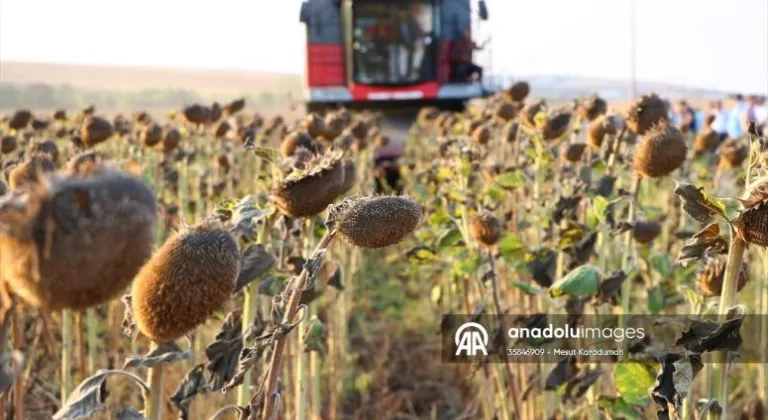
<path fill-rule="evenodd" d="M 109 301 L 152 253 L 157 199 L 137 177 L 62 173 L 13 194 L 0 204 L 0 274 L 32 307 Z"/>

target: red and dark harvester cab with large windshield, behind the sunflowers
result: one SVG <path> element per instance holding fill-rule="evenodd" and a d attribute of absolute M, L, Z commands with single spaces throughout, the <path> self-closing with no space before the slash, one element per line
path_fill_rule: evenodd
<path fill-rule="evenodd" d="M 485 0 L 305 0 L 308 111 L 460 110 L 485 96 L 473 1 L 487 20 Z"/>

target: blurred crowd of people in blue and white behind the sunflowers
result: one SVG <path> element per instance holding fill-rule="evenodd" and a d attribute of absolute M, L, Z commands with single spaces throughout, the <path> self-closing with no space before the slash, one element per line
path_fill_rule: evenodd
<path fill-rule="evenodd" d="M 747 133 L 750 121 L 754 121 L 758 129 L 768 129 L 768 102 L 765 96 L 735 94 L 725 103 L 711 101 L 707 109 L 697 110 L 687 101 L 680 100 L 670 108 L 670 121 L 693 133 L 709 128 L 722 140 L 736 139 Z"/>

